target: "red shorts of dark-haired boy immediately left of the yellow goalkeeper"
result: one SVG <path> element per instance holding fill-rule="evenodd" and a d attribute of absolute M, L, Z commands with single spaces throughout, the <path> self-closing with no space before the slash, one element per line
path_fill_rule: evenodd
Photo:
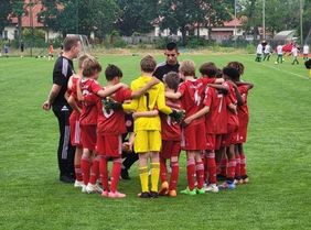
<path fill-rule="evenodd" d="M 122 135 L 97 133 L 96 152 L 107 157 L 121 157 Z"/>

